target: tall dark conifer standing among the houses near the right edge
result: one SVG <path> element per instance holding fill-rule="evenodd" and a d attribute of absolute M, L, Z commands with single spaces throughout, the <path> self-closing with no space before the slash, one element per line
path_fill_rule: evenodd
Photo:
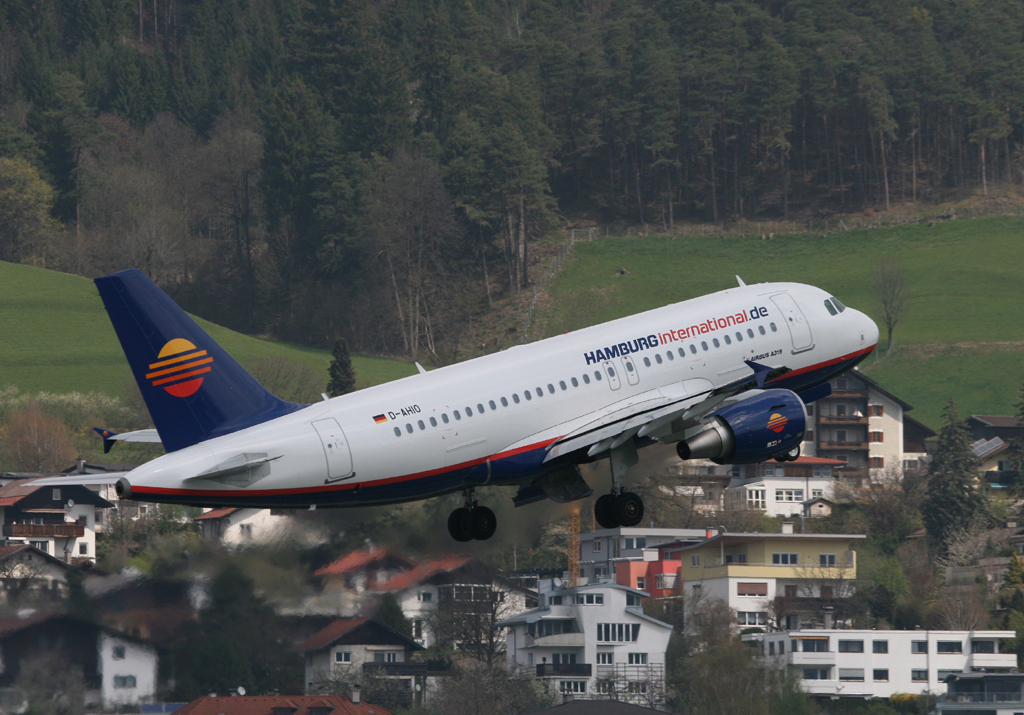
<path fill-rule="evenodd" d="M 953 532 L 974 521 L 985 509 L 967 422 L 959 418 L 952 399 L 944 414 L 946 424 L 928 468 L 928 497 L 922 505 L 925 527 L 942 551 Z"/>

